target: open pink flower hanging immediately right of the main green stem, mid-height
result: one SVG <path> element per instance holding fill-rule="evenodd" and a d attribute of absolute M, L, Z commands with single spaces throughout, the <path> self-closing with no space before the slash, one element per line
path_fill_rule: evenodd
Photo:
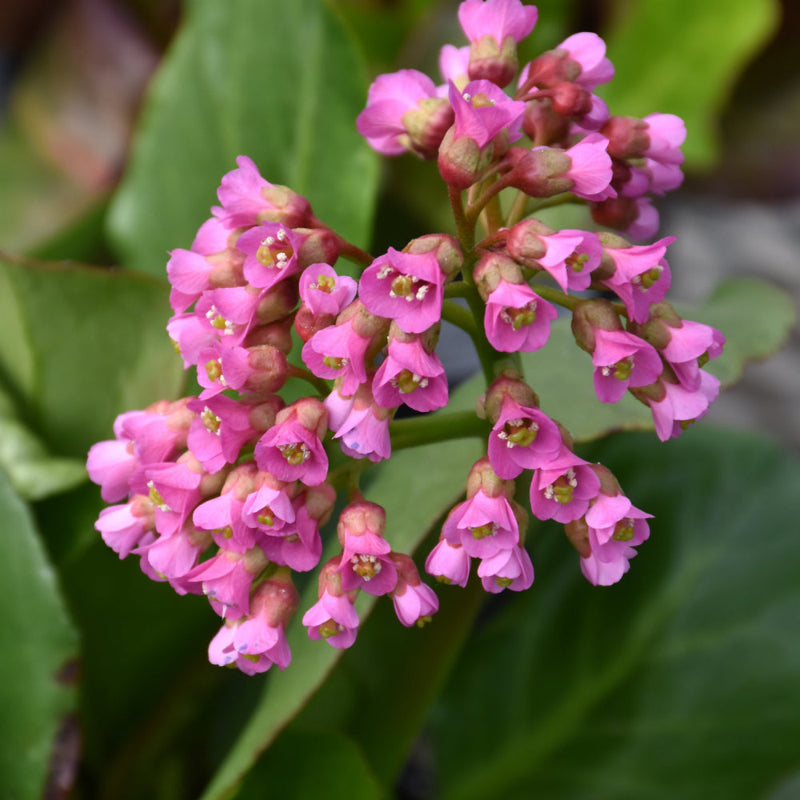
<path fill-rule="evenodd" d="M 500 281 L 486 301 L 484 327 L 495 350 L 533 352 L 547 344 L 550 323 L 558 316 L 526 283 Z"/>

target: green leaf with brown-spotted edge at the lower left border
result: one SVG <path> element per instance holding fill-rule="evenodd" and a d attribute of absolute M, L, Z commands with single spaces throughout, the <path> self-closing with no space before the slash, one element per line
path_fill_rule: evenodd
<path fill-rule="evenodd" d="M 0 797 L 38 800 L 59 767 L 56 736 L 66 737 L 68 753 L 77 735 L 67 717 L 77 699 L 77 635 L 31 515 L 2 471 L 0 517 L 0 581 L 12 599 L 0 626 Z"/>

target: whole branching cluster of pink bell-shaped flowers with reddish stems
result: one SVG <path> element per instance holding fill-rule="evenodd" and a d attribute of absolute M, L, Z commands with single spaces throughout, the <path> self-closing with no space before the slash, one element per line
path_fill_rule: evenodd
<path fill-rule="evenodd" d="M 530 515 L 563 524 L 594 584 L 618 581 L 647 539 L 650 515 L 608 469 L 574 452 L 518 354 L 547 344 L 561 307 L 591 356 L 601 402 L 629 391 L 649 406 L 662 440 L 706 413 L 719 384 L 702 367 L 724 339 L 665 301 L 672 239 L 629 241 L 656 231 L 650 196 L 680 184 L 685 131 L 671 115 L 609 115 L 594 90 L 614 70 L 594 34 L 519 70 L 517 44 L 536 19 L 519 0 L 465 0 L 459 21 L 470 43 L 442 49 L 444 83 L 414 70 L 381 75 L 358 117 L 377 151 L 436 159 L 457 237 L 425 235 L 373 258 L 240 156 L 191 247 L 172 251 L 167 330 L 200 391 L 120 415 L 87 467 L 114 504 L 96 523 L 104 541 L 178 593 L 205 594 L 221 617 L 212 663 L 248 674 L 287 666 L 293 575 L 319 565 L 321 532 L 343 492 L 339 552 L 303 612 L 308 635 L 349 647 L 362 592 L 388 595 L 406 626 L 437 610 L 358 477 L 391 456 L 401 406 L 448 405 L 436 355 L 443 319 L 472 336 L 481 359 L 486 456 L 426 571 L 464 586 L 477 559 L 487 591 L 528 588 Z M 513 193 L 509 202 L 502 192 Z M 575 201 L 588 206 L 593 230 L 553 230 L 535 216 Z M 350 268 L 358 279 L 337 271 L 340 256 L 360 268 Z M 527 507 L 515 500 L 523 476 Z"/>

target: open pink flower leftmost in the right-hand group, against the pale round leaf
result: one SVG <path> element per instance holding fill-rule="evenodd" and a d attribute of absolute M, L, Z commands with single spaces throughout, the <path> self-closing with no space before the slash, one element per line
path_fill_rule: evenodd
<path fill-rule="evenodd" d="M 594 389 L 603 403 L 616 403 L 629 386 L 649 386 L 663 365 L 655 348 L 625 331 L 594 330 Z"/>

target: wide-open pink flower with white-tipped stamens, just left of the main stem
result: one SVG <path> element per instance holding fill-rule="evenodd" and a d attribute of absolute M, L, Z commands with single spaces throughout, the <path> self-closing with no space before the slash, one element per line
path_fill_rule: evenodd
<path fill-rule="evenodd" d="M 444 280 L 434 253 L 390 247 L 364 271 L 359 293 L 370 313 L 394 320 L 406 333 L 422 333 L 442 316 Z"/>

